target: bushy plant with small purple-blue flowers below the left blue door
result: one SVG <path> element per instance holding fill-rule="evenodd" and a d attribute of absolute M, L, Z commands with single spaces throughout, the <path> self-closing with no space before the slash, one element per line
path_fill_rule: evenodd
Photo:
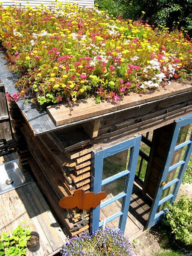
<path fill-rule="evenodd" d="M 79 236 L 74 236 L 63 245 L 62 256 L 133 256 L 127 237 L 121 231 L 106 227 L 99 229 L 92 235 L 86 231 Z"/>

